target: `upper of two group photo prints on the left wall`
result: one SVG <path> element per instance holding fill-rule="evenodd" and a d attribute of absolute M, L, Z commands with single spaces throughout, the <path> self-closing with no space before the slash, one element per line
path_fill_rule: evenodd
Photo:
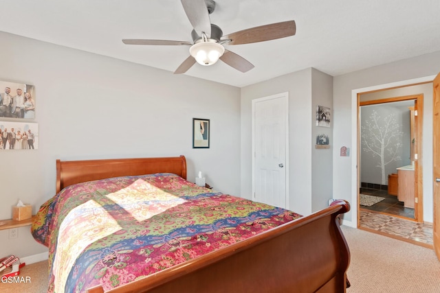
<path fill-rule="evenodd" d="M 0 119 L 35 119 L 35 86 L 0 80 Z"/>

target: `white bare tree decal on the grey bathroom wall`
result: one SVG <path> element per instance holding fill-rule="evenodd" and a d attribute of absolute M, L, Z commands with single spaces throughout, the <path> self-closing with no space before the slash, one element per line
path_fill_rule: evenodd
<path fill-rule="evenodd" d="M 376 167 L 381 169 L 382 185 L 386 185 L 385 166 L 401 159 L 398 151 L 402 147 L 404 132 L 400 129 L 395 113 L 382 119 L 375 110 L 361 127 L 362 149 L 371 152 L 373 158 L 379 159 Z"/>

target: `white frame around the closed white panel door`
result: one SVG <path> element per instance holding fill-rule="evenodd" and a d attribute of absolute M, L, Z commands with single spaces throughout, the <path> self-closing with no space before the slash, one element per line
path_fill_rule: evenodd
<path fill-rule="evenodd" d="M 264 102 L 270 99 L 285 99 L 285 203 L 286 209 L 289 209 L 289 92 L 277 93 L 275 95 L 269 95 L 267 97 L 260 97 L 258 99 L 252 99 L 252 198 L 255 194 L 255 105 L 257 102 Z"/>

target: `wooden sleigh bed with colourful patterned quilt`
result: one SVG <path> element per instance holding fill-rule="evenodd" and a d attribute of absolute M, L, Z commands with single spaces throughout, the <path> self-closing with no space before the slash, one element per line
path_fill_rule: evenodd
<path fill-rule="evenodd" d="M 56 161 L 48 292 L 345 292 L 349 203 L 307 216 L 186 181 L 184 156 Z"/>

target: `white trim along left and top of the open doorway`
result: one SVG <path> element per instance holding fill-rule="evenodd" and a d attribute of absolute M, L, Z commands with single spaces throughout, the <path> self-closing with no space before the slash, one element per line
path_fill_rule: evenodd
<path fill-rule="evenodd" d="M 359 170 L 358 170 L 358 141 L 359 141 L 359 104 L 358 104 L 358 94 L 365 93 L 369 91 L 380 91 L 382 89 L 392 89 L 404 86 L 410 86 L 415 84 L 423 84 L 432 82 L 436 75 L 429 75 L 422 78 L 414 78 L 411 80 L 402 80 L 399 82 L 391 82 L 388 84 L 379 84 L 376 86 L 368 86 L 360 89 L 353 89 L 351 91 L 351 145 L 353 148 L 351 150 L 351 205 L 356 207 L 358 206 L 358 194 L 359 194 L 359 186 L 358 182 L 360 178 Z M 344 220 L 344 224 L 347 226 L 351 226 L 353 228 L 358 228 L 358 209 L 351 209 L 351 221 Z"/>

